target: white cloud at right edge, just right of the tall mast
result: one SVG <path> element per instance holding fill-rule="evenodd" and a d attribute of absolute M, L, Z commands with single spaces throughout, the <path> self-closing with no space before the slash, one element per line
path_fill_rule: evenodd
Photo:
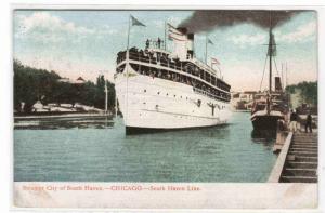
<path fill-rule="evenodd" d="M 311 21 L 304 25 L 299 26 L 296 30 L 291 32 L 278 32 L 278 35 L 276 35 L 276 38 L 278 41 L 287 43 L 306 42 L 315 38 L 316 28 L 316 22 Z"/>

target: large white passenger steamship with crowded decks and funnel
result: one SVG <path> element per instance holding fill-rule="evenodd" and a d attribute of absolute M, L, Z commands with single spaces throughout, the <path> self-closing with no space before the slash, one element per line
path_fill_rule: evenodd
<path fill-rule="evenodd" d="M 127 134 L 212 127 L 226 123 L 231 86 L 217 70 L 195 58 L 194 34 L 169 25 L 164 41 L 117 54 L 116 94 Z"/>

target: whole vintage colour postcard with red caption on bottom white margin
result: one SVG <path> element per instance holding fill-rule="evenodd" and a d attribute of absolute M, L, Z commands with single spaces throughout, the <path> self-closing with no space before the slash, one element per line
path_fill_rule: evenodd
<path fill-rule="evenodd" d="M 316 10 L 12 19 L 15 208 L 317 208 Z"/>

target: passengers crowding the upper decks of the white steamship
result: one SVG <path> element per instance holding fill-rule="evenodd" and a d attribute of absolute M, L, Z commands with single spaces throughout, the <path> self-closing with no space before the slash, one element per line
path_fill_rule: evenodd
<path fill-rule="evenodd" d="M 159 41 L 159 40 L 158 40 Z M 157 45 L 160 43 L 157 41 Z M 148 42 L 148 40 L 147 40 Z M 208 71 L 204 70 L 199 66 L 195 65 L 191 61 L 180 61 L 179 58 L 170 58 L 170 55 L 164 51 L 150 51 L 150 44 L 147 44 L 145 50 L 139 50 L 138 48 L 133 46 L 129 50 L 129 58 L 131 61 L 139 61 L 143 63 L 150 64 L 159 64 L 164 67 L 169 67 L 171 69 L 177 69 L 180 71 L 184 71 L 186 74 L 191 74 L 191 76 L 195 76 L 202 80 L 197 80 L 196 78 L 192 78 L 188 75 L 182 75 L 179 72 L 173 72 L 168 69 L 157 69 L 152 66 L 144 66 L 138 64 L 132 64 L 131 66 L 134 70 L 139 71 L 142 75 L 151 76 L 153 78 L 164 78 L 168 80 L 172 80 L 176 82 L 182 82 L 188 85 L 192 85 L 196 89 L 203 90 L 207 93 L 212 94 L 213 96 L 219 96 L 225 99 L 230 99 L 230 95 L 209 85 L 212 84 L 221 90 L 230 91 L 230 86 L 224 83 L 221 79 L 216 78 L 213 75 L 209 74 Z M 121 63 L 126 59 L 126 51 L 119 52 L 117 57 L 117 64 Z"/>

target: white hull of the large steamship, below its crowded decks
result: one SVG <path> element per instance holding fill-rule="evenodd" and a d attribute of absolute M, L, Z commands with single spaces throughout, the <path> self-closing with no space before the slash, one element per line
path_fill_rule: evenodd
<path fill-rule="evenodd" d="M 213 127 L 231 116 L 227 102 L 196 93 L 191 85 L 125 69 L 115 84 L 127 134 Z"/>

